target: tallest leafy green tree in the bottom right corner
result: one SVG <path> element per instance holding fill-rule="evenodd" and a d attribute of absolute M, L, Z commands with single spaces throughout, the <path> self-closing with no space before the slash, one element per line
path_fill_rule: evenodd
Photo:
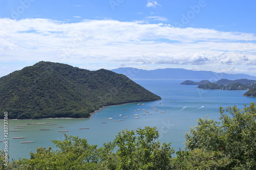
<path fill-rule="evenodd" d="M 200 118 L 198 126 L 186 134 L 186 149 L 224 155 L 229 163 L 222 169 L 256 169 L 255 104 L 241 110 L 227 107 L 226 112 L 220 108 L 220 122 Z"/>

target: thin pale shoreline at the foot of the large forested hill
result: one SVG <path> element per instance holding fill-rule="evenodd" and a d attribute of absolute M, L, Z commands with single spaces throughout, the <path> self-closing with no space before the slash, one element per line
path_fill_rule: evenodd
<path fill-rule="evenodd" d="M 160 99 L 162 100 L 162 99 Z M 160 101 L 160 100 L 155 100 L 155 101 Z M 155 102 L 155 101 L 146 101 L 146 102 Z M 49 118 L 37 118 L 37 119 L 17 119 L 17 118 L 8 118 L 8 120 L 41 120 L 41 119 L 58 119 L 58 118 L 66 118 L 66 119 L 89 119 L 93 117 L 93 114 L 101 111 L 103 108 L 105 107 L 109 107 L 109 106 L 119 106 L 119 105 L 126 105 L 126 104 L 132 104 L 132 103 L 143 103 L 143 102 L 130 102 L 130 103 L 123 103 L 123 104 L 117 104 L 117 105 L 108 105 L 108 106 L 102 106 L 100 107 L 98 110 L 95 110 L 94 112 L 90 113 L 90 117 L 84 117 L 84 118 L 73 118 L 73 117 L 49 117 Z M 4 119 L 0 119 L 0 120 L 4 120 Z"/>

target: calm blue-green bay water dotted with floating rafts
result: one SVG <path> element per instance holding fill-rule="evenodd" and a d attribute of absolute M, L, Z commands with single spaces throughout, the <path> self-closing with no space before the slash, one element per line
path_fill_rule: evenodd
<path fill-rule="evenodd" d="M 185 133 L 190 127 L 197 125 L 200 117 L 218 120 L 219 107 L 256 102 L 256 98 L 243 96 L 245 91 L 201 90 L 197 86 L 179 85 L 184 80 L 134 80 L 153 93 L 160 95 L 162 100 L 145 103 L 132 103 L 119 106 L 105 107 L 95 113 L 90 119 L 37 119 L 37 120 L 8 120 L 9 132 L 8 153 L 11 159 L 29 158 L 30 152 L 35 152 L 37 147 L 52 147 L 53 140 L 63 140 L 59 130 L 68 130 L 68 135 L 86 138 L 90 144 L 99 147 L 104 142 L 113 141 L 117 132 L 121 130 L 136 130 L 145 126 L 157 127 L 160 132 L 160 142 L 172 142 L 172 147 L 184 149 Z M 143 104 L 143 105 L 142 105 Z M 152 108 L 154 107 L 154 108 Z M 157 108 L 158 111 L 154 109 Z M 138 110 L 140 109 L 140 110 Z M 144 110 L 142 110 L 144 109 Z M 145 111 L 147 110 L 147 111 Z M 152 114 L 148 114 L 150 112 Z M 161 113 L 162 112 L 162 113 Z M 121 116 L 119 116 L 122 114 Z M 135 116 L 134 114 L 138 114 Z M 146 114 L 146 115 L 142 115 Z M 126 117 L 127 118 L 122 118 Z M 112 117 L 113 119 L 108 119 Z M 140 117 L 135 119 L 134 117 Z M 123 121 L 116 122 L 115 120 Z M 102 123 L 103 122 L 103 123 Z M 27 125 L 32 123 L 46 123 L 41 125 Z M 56 124 L 56 125 L 47 125 Z M 16 125 L 27 125 L 22 129 L 14 129 Z M 0 140 L 4 140 L 4 120 L 0 120 L 2 133 Z M 63 127 L 63 128 L 58 128 Z M 90 128 L 90 129 L 79 129 Z M 39 129 L 50 129 L 39 131 Z M 12 137 L 25 137 L 12 139 Z M 33 143 L 20 143 L 20 141 L 34 141 Z M 0 143 L 3 150 L 4 143 Z"/>

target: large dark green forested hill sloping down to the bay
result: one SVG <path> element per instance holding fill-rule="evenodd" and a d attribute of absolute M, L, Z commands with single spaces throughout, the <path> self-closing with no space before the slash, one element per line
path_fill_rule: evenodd
<path fill-rule="evenodd" d="M 0 110 L 9 112 L 9 118 L 90 117 L 103 106 L 160 99 L 113 71 L 53 62 L 41 61 L 0 78 Z"/>

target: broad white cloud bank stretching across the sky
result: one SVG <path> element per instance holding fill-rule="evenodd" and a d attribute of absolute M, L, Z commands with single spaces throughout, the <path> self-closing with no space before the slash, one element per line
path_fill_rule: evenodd
<path fill-rule="evenodd" d="M 193 64 L 212 69 L 216 64 L 256 64 L 256 36 L 248 33 L 108 19 L 68 23 L 2 18 L 0 28 L 0 60 L 107 63 L 112 67 L 114 63 Z"/>

